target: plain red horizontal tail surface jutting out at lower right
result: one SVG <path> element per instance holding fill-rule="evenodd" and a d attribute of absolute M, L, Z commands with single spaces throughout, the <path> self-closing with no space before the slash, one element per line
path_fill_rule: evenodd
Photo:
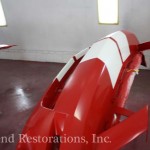
<path fill-rule="evenodd" d="M 97 142 L 96 150 L 116 150 L 148 130 L 148 106 L 134 113 L 128 119 L 101 133 L 97 138 L 109 137 L 107 142 Z"/>

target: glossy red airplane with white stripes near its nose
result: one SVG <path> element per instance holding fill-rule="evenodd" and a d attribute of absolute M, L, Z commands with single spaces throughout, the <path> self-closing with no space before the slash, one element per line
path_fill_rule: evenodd
<path fill-rule="evenodd" d="M 117 150 L 147 131 L 148 106 L 132 112 L 124 104 L 149 48 L 118 31 L 73 56 L 27 121 L 17 150 Z"/>

